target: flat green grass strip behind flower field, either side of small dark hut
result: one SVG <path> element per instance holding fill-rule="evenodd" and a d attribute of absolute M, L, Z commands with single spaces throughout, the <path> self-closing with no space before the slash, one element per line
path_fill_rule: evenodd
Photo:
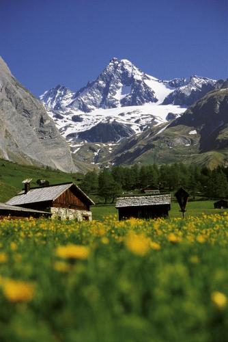
<path fill-rule="evenodd" d="M 195 202 L 188 202 L 186 206 L 185 217 L 201 216 L 205 214 L 223 213 L 225 209 L 214 209 L 214 200 L 197 200 Z M 115 205 L 98 205 L 91 207 L 94 220 L 102 221 L 107 215 L 114 215 L 114 219 L 118 218 L 118 211 Z M 169 211 L 170 218 L 182 218 L 180 207 L 177 202 L 171 202 L 171 210 Z"/>

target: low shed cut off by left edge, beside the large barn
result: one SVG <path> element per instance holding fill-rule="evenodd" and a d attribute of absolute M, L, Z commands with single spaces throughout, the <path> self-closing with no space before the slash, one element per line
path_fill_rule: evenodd
<path fill-rule="evenodd" d="M 33 209 L 26 209 L 22 207 L 16 207 L 15 205 L 5 205 L 0 203 L 0 220 L 4 218 L 23 219 L 23 218 L 50 218 L 51 213 L 46 211 L 38 211 Z"/>

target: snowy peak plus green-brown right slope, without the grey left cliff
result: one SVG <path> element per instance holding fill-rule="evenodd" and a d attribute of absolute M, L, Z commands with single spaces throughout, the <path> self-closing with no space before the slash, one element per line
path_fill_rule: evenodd
<path fill-rule="evenodd" d="M 228 89 L 206 77 L 164 81 L 113 58 L 76 92 L 40 96 L 76 165 L 227 163 Z"/>

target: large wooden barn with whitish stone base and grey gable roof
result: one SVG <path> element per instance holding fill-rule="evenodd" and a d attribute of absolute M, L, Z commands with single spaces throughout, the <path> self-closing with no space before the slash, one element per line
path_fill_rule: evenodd
<path fill-rule="evenodd" d="M 74 183 L 30 188 L 25 182 L 25 189 L 6 204 L 47 211 L 59 220 L 91 221 L 89 206 L 95 203 Z"/>

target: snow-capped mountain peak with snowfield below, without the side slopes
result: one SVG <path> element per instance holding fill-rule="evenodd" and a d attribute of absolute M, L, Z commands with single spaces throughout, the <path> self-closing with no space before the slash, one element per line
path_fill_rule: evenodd
<path fill-rule="evenodd" d="M 200 98 L 201 90 L 206 85 L 213 88 L 215 82 L 202 77 L 161 81 L 128 60 L 113 58 L 95 81 L 79 91 L 57 86 L 40 99 L 70 142 L 117 142 L 180 116 L 189 96 Z M 180 93 L 186 102 L 177 103 Z"/>

